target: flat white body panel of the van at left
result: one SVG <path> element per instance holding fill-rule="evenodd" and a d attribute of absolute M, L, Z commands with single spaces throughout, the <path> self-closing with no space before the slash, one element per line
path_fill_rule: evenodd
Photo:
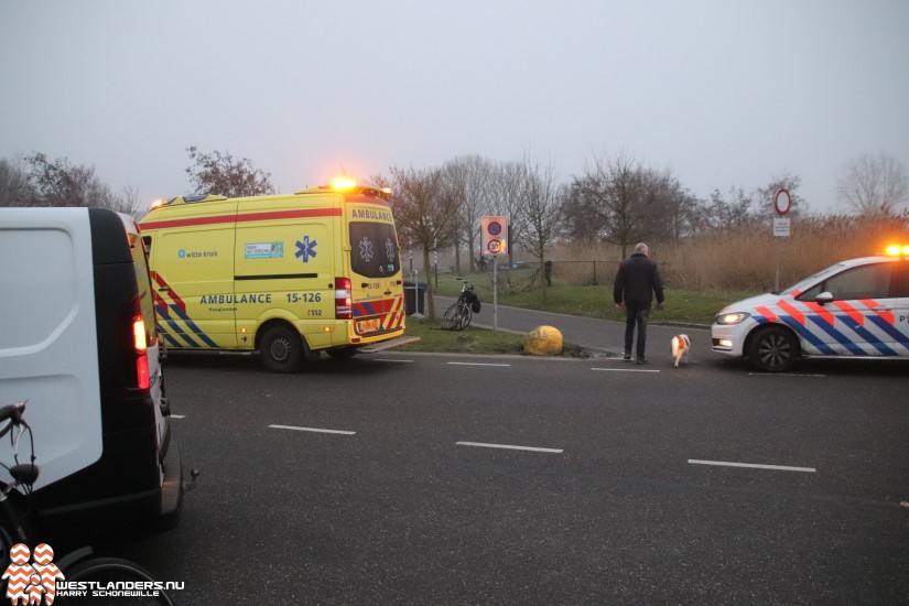
<path fill-rule="evenodd" d="M 0 403 L 28 399 L 35 435 L 54 436 L 36 489 L 101 456 L 94 281 L 87 208 L 0 208 Z"/>

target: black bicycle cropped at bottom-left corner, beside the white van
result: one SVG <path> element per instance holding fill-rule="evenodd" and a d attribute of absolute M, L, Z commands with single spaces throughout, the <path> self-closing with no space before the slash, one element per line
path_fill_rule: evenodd
<path fill-rule="evenodd" d="M 171 598 L 161 588 L 164 584 L 155 582 L 151 574 L 134 562 L 120 558 L 96 558 L 91 555 L 91 548 L 87 547 L 53 562 L 54 552 L 50 545 L 35 545 L 32 542 L 31 533 L 34 532 L 32 529 L 36 521 L 31 511 L 30 497 L 41 468 L 35 464 L 32 429 L 23 419 L 26 402 L 28 400 L 0 408 L 0 439 L 11 433 L 15 462 L 12 466 L 0 462 L 12 477 L 12 483 L 0 481 L 0 562 L 7 566 L 3 573 L 3 578 L 7 578 L 7 597 L 15 596 L 13 604 L 19 599 L 22 604 L 122 604 L 122 589 L 129 592 L 128 602 L 136 606 L 173 606 Z M 19 444 L 26 432 L 31 452 L 29 462 L 20 463 Z M 17 513 L 10 501 L 23 496 L 23 511 Z M 34 553 L 30 547 L 34 549 Z M 57 580 L 67 585 L 73 584 L 73 587 L 85 587 L 85 598 L 56 593 Z M 94 587 L 117 589 L 93 592 Z"/>

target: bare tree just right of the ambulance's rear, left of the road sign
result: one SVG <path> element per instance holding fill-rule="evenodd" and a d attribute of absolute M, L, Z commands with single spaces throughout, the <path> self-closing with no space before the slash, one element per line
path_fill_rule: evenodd
<path fill-rule="evenodd" d="M 457 198 L 444 187 L 442 171 L 418 171 L 392 166 L 392 195 L 389 204 L 394 213 L 399 237 L 423 251 L 423 268 L 429 272 L 430 253 L 454 242 L 457 225 Z M 435 317 L 432 280 L 426 280 L 426 315 Z"/>

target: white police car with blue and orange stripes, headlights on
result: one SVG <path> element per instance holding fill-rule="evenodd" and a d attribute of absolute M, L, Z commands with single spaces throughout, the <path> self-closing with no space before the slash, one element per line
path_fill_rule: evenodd
<path fill-rule="evenodd" d="M 808 357 L 909 359 L 909 246 L 733 303 L 716 314 L 711 340 L 717 354 L 767 372 Z"/>

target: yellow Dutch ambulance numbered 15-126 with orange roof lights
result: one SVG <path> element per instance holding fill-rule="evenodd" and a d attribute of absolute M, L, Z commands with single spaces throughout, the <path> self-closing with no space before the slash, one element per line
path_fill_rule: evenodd
<path fill-rule="evenodd" d="M 404 334 L 390 191 L 351 183 L 294 194 L 182 196 L 140 221 L 169 350 L 258 350 L 297 369 Z"/>

